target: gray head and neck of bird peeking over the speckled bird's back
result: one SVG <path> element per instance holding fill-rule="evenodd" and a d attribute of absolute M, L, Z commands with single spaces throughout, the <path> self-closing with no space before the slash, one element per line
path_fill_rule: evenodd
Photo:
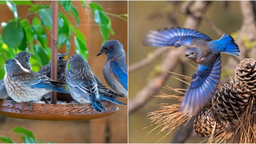
<path fill-rule="evenodd" d="M 33 52 L 19 52 L 14 59 L 18 60 L 22 67 L 31 70 L 29 60 L 33 54 Z"/>

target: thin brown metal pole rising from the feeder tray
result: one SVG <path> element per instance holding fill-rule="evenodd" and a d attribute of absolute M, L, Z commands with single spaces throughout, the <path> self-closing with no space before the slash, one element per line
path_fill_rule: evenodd
<path fill-rule="evenodd" d="M 58 1 L 52 1 L 52 65 L 51 65 L 51 79 L 57 81 L 57 67 L 58 67 Z M 51 94 L 51 104 L 57 103 L 57 92 Z"/>

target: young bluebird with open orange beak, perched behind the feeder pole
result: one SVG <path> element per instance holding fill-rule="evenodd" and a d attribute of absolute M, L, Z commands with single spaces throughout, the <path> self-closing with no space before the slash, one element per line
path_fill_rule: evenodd
<path fill-rule="evenodd" d="M 65 54 L 60 54 L 58 53 L 58 82 L 65 83 L 66 82 L 66 71 L 68 68 L 68 54 L 71 52 L 65 53 Z M 52 61 L 50 61 L 47 65 L 39 69 L 38 73 L 45 75 L 47 77 L 51 77 L 51 64 Z M 64 86 L 64 85 L 63 85 Z M 49 99 L 51 97 L 51 93 L 48 93 L 44 96 L 44 101 L 46 102 L 45 99 Z M 47 102 L 48 103 L 48 102 Z"/>

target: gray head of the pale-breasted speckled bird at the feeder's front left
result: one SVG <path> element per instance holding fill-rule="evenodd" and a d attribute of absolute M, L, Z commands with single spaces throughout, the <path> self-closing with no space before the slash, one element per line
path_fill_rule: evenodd
<path fill-rule="evenodd" d="M 18 60 L 10 59 L 5 63 L 5 71 L 7 75 L 16 75 L 27 69 L 23 68 Z"/>

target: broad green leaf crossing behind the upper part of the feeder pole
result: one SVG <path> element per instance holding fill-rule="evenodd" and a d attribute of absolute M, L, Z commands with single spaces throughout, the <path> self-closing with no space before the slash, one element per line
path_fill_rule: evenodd
<path fill-rule="evenodd" d="M 59 15 L 60 16 L 60 15 Z M 52 10 L 51 9 L 40 9 L 39 10 L 39 17 L 42 22 L 48 26 L 51 30 L 52 27 Z M 58 17 L 58 27 L 63 27 L 63 20 Z"/>

